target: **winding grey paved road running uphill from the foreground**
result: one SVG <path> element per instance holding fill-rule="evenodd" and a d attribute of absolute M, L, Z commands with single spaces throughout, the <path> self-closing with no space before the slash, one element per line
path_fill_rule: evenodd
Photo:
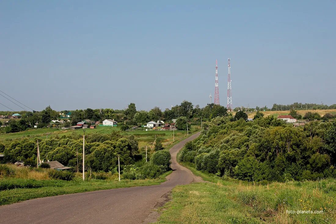
<path fill-rule="evenodd" d="M 174 170 L 167 181 L 155 186 L 118 188 L 37 198 L 0 206 L 0 223 L 148 223 L 155 221 L 153 210 L 167 201 L 176 185 L 202 181 L 176 162 L 176 154 L 187 141 L 170 149 Z"/>

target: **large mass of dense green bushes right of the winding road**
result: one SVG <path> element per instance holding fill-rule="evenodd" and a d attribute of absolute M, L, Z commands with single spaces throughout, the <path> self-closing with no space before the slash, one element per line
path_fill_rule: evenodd
<path fill-rule="evenodd" d="M 224 117 L 204 127 L 179 155 L 197 170 L 247 181 L 336 178 L 336 121 L 293 127 L 271 116 Z"/>

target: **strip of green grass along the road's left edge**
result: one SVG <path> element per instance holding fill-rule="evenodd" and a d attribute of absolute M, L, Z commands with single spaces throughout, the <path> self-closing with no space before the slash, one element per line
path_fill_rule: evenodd
<path fill-rule="evenodd" d="M 107 190 L 122 187 L 134 187 L 134 186 L 149 186 L 158 185 L 166 180 L 171 171 L 166 172 L 157 179 L 145 179 L 145 180 L 121 180 L 119 181 L 107 181 L 107 180 L 88 180 L 82 181 L 79 178 L 74 181 L 61 181 L 61 180 L 43 180 L 43 185 L 46 187 L 36 188 L 15 188 L 10 190 L 0 191 L 0 205 L 11 204 L 19 201 L 49 197 L 61 194 L 72 194 L 96 190 Z M 16 178 L 0 179 L 1 181 L 17 181 Z M 52 185 L 52 186 L 49 186 Z"/>

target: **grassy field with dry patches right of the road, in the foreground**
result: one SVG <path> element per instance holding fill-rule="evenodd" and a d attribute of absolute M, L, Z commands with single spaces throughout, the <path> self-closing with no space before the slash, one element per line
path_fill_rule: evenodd
<path fill-rule="evenodd" d="M 157 223 L 336 223 L 334 179 L 254 185 L 187 167 L 208 182 L 175 187 Z"/>

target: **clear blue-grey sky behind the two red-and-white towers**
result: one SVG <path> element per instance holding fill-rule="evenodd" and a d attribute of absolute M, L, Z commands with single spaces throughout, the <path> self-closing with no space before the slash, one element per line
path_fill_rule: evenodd
<path fill-rule="evenodd" d="M 34 110 L 205 106 L 217 59 L 226 106 L 230 58 L 234 107 L 336 103 L 335 1 L 204 2 L 0 1 L 0 90 Z"/>

